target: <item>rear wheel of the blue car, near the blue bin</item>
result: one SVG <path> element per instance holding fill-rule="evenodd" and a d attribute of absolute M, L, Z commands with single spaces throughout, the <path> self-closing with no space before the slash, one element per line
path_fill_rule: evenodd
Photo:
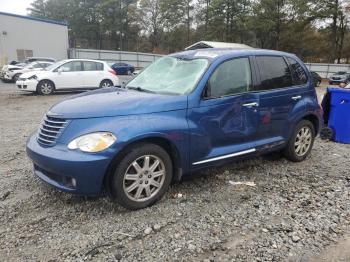
<path fill-rule="evenodd" d="M 295 127 L 287 146 L 283 150 L 284 156 L 293 162 L 304 161 L 312 150 L 315 141 L 315 127 L 308 120 L 301 120 Z M 297 145 L 299 141 L 299 145 Z"/>

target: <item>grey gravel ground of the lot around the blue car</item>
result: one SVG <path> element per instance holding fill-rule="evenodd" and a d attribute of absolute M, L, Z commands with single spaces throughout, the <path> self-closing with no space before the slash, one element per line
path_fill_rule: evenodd
<path fill-rule="evenodd" d="M 271 155 L 205 170 L 132 212 L 33 176 L 25 141 L 69 95 L 0 84 L 0 260 L 350 261 L 350 145 L 317 139 L 302 163 Z"/>

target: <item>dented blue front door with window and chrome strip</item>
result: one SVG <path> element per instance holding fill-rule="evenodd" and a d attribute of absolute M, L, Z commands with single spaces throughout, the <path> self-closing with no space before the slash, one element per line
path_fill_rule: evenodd
<path fill-rule="evenodd" d="M 215 69 L 199 106 L 188 111 L 192 168 L 255 151 L 259 95 L 251 88 L 249 58 L 228 60 Z"/>

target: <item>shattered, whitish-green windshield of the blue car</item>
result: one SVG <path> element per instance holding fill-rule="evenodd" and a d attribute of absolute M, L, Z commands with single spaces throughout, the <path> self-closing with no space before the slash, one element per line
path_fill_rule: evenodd
<path fill-rule="evenodd" d="M 207 65 L 208 60 L 203 58 L 166 56 L 144 69 L 126 87 L 160 94 L 187 94 L 195 88 Z"/>

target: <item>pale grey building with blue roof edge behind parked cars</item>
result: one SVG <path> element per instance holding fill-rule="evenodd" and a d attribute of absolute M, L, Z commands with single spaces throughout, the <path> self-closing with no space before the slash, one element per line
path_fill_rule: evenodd
<path fill-rule="evenodd" d="M 60 60 L 67 53 L 67 23 L 0 12 L 0 65 L 32 56 Z"/>

